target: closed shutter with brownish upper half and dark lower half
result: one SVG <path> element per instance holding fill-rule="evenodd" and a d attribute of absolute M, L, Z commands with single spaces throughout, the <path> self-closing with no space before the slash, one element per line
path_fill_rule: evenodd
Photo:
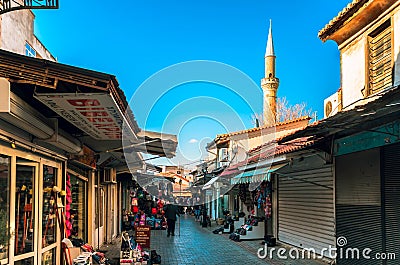
<path fill-rule="evenodd" d="M 379 161 L 379 148 L 336 158 L 336 235 L 346 240 L 346 244 L 337 246 L 338 265 L 382 264 L 362 256 L 365 248 L 372 250 L 371 257 L 382 252 Z M 352 248 L 360 251 L 360 258 L 346 254 Z"/>

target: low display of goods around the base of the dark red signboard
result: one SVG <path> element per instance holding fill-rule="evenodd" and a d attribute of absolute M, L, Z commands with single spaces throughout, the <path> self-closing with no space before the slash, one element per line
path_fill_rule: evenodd
<path fill-rule="evenodd" d="M 142 250 L 133 236 L 123 232 L 119 262 L 120 265 L 157 265 L 161 264 L 161 256 L 155 250 L 150 253 Z"/>

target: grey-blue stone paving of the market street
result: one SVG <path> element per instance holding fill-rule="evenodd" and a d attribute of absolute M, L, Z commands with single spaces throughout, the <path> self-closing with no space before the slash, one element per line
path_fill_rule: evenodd
<path fill-rule="evenodd" d="M 270 265 L 321 265 L 327 264 L 317 260 L 282 260 L 257 257 L 257 251 L 263 247 L 261 240 L 235 242 L 228 234 L 213 234 L 218 228 L 203 228 L 191 216 L 182 216 L 180 227 L 177 227 L 174 237 L 167 237 L 165 230 L 153 230 L 151 233 L 151 248 L 162 258 L 163 265 L 225 265 L 225 264 L 270 264 Z M 113 244 L 105 245 L 107 257 L 112 264 L 119 264 L 120 238 Z"/>

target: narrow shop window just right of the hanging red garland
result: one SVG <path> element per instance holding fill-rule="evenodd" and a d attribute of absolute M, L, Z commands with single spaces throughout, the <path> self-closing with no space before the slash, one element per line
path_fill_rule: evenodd
<path fill-rule="evenodd" d="M 71 204 L 70 222 L 71 236 L 87 240 L 87 182 L 77 176 L 70 175 Z"/>

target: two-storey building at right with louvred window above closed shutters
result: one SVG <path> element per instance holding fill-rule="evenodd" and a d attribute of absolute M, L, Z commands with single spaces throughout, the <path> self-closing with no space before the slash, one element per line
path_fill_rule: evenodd
<path fill-rule="evenodd" d="M 337 242 L 334 240 L 331 244 L 338 249 L 338 256 L 333 258 L 337 264 L 398 263 L 395 246 L 399 243 L 399 207 L 394 201 L 398 200 L 399 176 L 399 38 L 396 30 L 399 11 L 398 1 L 353 1 L 319 32 L 323 41 L 334 40 L 339 45 L 341 88 L 325 100 L 324 120 L 279 141 L 285 144 L 307 138 L 322 143 L 315 148 L 315 152 L 324 151 L 318 155 L 322 164 L 315 164 L 312 175 L 324 174 L 326 182 L 318 182 L 312 189 L 307 184 L 310 187 L 305 191 L 311 191 L 307 193 L 312 195 L 310 199 L 314 198 L 312 203 L 320 205 L 332 198 L 327 189 L 318 195 L 315 193 L 323 188 L 320 184 L 332 187 L 334 204 L 333 211 L 328 204 L 322 209 L 329 211 L 318 210 L 325 213 L 324 218 L 329 222 L 317 226 L 316 218 L 301 223 L 302 219 L 297 217 L 296 223 L 292 223 L 281 212 L 281 203 L 287 200 L 279 200 L 278 219 L 282 223 L 278 221 L 278 239 L 318 251 L 323 245 L 298 236 L 296 230 L 302 234 L 310 231 L 320 242 L 329 239 L 325 245 L 332 238 L 321 233 L 321 229 L 333 231 Z M 305 184 L 300 185 L 298 177 L 304 176 L 303 172 L 314 164 L 309 161 L 306 165 L 306 160 L 305 154 L 298 154 L 294 156 L 293 172 L 285 172 L 288 166 L 277 171 L 279 187 L 283 186 L 295 197 L 300 194 L 292 191 L 295 182 L 297 187 L 303 187 Z M 332 181 L 328 172 L 333 174 Z M 287 176 L 290 179 L 285 180 Z M 287 204 L 285 209 L 295 213 L 299 205 Z M 282 226 L 284 233 L 281 233 Z M 354 249 L 358 251 L 353 253 Z M 367 257 L 362 253 L 365 249 L 371 249 Z M 382 253 L 386 258 L 379 258 Z"/>

